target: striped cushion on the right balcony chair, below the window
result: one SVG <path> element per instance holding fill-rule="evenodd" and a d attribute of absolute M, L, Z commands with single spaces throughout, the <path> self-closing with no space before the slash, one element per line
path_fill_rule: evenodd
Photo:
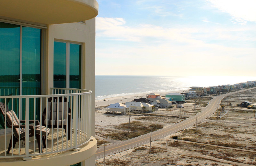
<path fill-rule="evenodd" d="M 52 116 L 52 102 L 48 102 L 47 119 L 44 119 L 44 124 L 49 125 L 67 125 L 67 102 L 64 102 L 64 110 L 62 109 L 62 102 L 59 102 L 59 112 L 57 112 L 57 103 L 53 102 L 53 116 Z M 63 120 L 62 120 L 63 113 Z M 58 120 L 57 120 L 58 117 Z"/>

